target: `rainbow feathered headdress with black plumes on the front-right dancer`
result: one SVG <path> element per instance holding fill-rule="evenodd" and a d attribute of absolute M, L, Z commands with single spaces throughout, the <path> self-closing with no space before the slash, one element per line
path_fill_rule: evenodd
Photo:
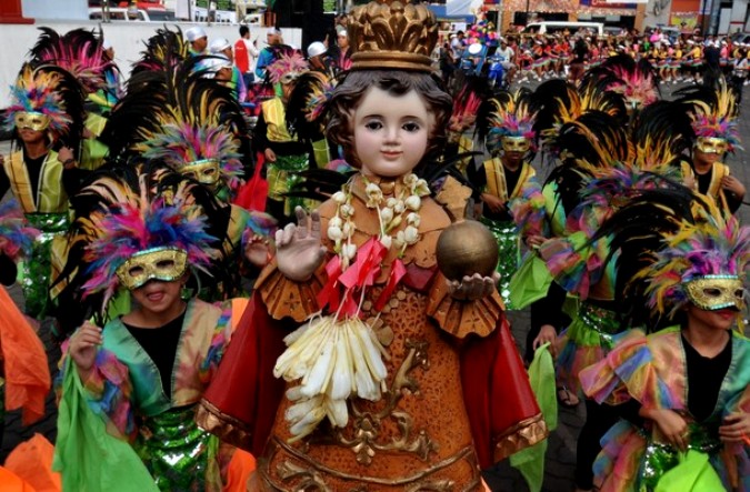
<path fill-rule="evenodd" d="M 658 329 L 690 302 L 701 309 L 742 303 L 750 229 L 687 187 L 641 193 L 603 223 L 602 237 L 617 251 L 617 299 L 630 325 Z M 691 290 L 700 282 L 730 287 L 730 302 L 697 304 Z"/>

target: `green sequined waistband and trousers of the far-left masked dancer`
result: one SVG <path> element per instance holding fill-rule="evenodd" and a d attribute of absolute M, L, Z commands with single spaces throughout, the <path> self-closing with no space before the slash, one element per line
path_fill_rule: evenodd
<path fill-rule="evenodd" d="M 68 213 L 27 213 L 29 225 L 41 231 L 31 255 L 21 263 L 19 283 L 26 300 L 26 313 L 41 319 L 49 311 L 49 288 L 52 273 L 51 252 L 56 235 L 68 231 Z"/>

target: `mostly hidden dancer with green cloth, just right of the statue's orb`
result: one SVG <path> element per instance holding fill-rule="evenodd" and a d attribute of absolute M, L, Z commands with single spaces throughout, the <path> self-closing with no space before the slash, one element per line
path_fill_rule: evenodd
<path fill-rule="evenodd" d="M 561 154 L 567 154 L 567 149 L 559 148 L 560 142 L 557 140 L 566 123 L 586 114 L 582 121 L 598 124 L 597 118 L 602 112 L 622 125 L 627 118 L 623 98 L 601 90 L 593 80 L 588 80 L 580 88 L 562 80 L 544 82 L 533 94 L 533 107 L 537 114 L 533 131 L 541 135 L 543 155 L 551 162 L 558 162 Z M 579 150 L 586 147 L 574 140 L 570 145 Z M 580 173 L 568 165 L 556 167 L 541 187 L 536 178 L 531 178 L 521 190 L 521 197 L 510 204 L 513 220 L 521 228 L 529 249 L 519 273 L 512 280 L 511 289 L 511 298 L 519 309 L 529 304 L 531 308 L 526 344 L 526 359 L 529 362 L 533 359 L 534 350 L 547 342 L 550 343 L 551 353 L 557 355 L 557 334 L 570 323 L 570 317 L 562 312 L 564 289 L 556 282 L 550 283 L 549 288 L 540 285 L 533 271 L 539 268 L 546 270 L 538 254 L 539 247 L 548 239 L 566 234 L 566 217 L 578 202 L 576 197 L 581 187 L 580 178 Z M 566 406 L 574 406 L 579 402 L 576 393 L 564 383 L 559 384 L 558 400 Z"/>

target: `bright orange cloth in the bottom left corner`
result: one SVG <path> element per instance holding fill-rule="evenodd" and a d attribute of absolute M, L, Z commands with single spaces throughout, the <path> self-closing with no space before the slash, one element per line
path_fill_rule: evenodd
<path fill-rule="evenodd" d="M 60 492 L 60 474 L 52 471 L 54 446 L 42 434 L 20 443 L 6 459 L 6 469 L 24 480 L 30 491 Z M 4 483 L 0 479 L 0 483 Z M 19 489 L 23 490 L 23 489 Z M 0 492 L 4 492 L 0 485 Z"/>

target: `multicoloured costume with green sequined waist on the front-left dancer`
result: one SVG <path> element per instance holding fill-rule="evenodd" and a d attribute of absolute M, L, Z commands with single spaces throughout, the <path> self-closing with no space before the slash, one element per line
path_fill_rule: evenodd
<path fill-rule="evenodd" d="M 160 490 L 224 490 L 234 448 L 198 429 L 194 409 L 213 378 L 238 321 L 232 314 L 241 314 L 244 304 L 241 300 L 228 301 L 221 307 L 199 300 L 188 302 L 179 342 L 173 348 L 172 388 L 168 391 L 154 362 L 121 319 L 109 322 L 92 375 L 82 381 L 86 402 L 77 406 L 74 392 L 61 394 L 58 426 L 63 431 L 58 438 L 56 460 L 63 464 L 63 483 L 86 485 L 88 466 L 107 463 L 88 463 L 74 458 L 80 454 L 74 445 L 82 432 L 76 415 L 93 412 L 107 423 L 110 433 L 103 439 L 128 439 L 131 453 L 137 453 L 146 464 Z M 61 381 L 79 378 L 67 355 L 61 365 Z M 71 420 L 64 420 L 66 416 Z M 132 473 L 138 475 L 139 470 Z M 91 489 L 87 490 L 94 490 L 97 485 L 89 483 Z"/>

